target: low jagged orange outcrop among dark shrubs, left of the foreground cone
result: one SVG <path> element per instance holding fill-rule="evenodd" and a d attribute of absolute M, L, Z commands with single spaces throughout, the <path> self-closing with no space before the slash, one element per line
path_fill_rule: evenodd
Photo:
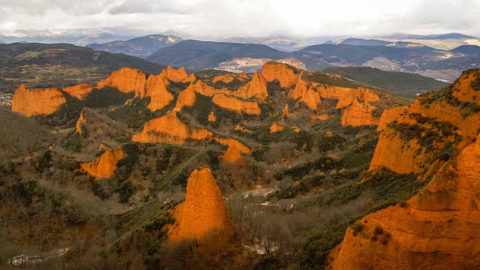
<path fill-rule="evenodd" d="M 117 162 L 125 157 L 121 147 L 106 151 L 96 160 L 80 163 L 80 170 L 87 172 L 96 180 L 108 178 L 117 169 Z"/>

